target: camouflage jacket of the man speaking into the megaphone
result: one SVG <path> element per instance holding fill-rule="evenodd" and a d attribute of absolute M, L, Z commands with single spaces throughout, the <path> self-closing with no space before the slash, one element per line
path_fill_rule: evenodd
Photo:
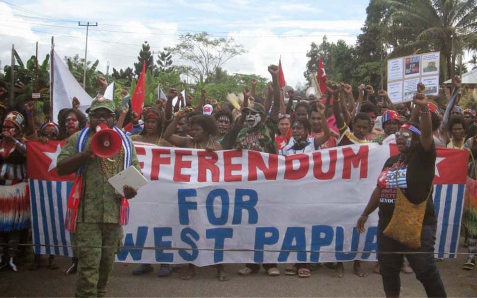
<path fill-rule="evenodd" d="M 77 154 L 76 148 L 79 133 L 77 132 L 68 139 L 60 155 L 58 155 L 58 163 L 67 157 Z M 85 147 L 91 143 L 92 136 L 92 134 L 89 135 Z M 97 156 L 92 159 L 88 158 L 83 164 L 83 185 L 77 222 L 117 224 L 119 222 L 121 196 L 115 192 L 108 179 L 124 169 L 124 149 L 114 157 L 106 159 L 106 164 L 109 167 L 115 165 L 111 168 L 111 173 L 110 175 L 108 174 L 108 177 L 106 177 L 101 168 L 100 159 Z M 132 146 L 131 165 L 141 171 L 134 145 Z"/>

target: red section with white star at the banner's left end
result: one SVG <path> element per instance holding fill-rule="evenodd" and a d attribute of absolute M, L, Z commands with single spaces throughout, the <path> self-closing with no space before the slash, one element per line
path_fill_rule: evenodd
<path fill-rule="evenodd" d="M 75 174 L 60 176 L 56 171 L 56 159 L 65 144 L 65 141 L 49 141 L 47 144 L 40 141 L 26 142 L 28 178 L 49 181 L 75 180 Z"/>

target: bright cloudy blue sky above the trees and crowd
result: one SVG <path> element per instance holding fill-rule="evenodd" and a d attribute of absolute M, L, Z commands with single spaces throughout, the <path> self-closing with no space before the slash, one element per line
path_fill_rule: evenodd
<path fill-rule="evenodd" d="M 230 73 L 268 77 L 267 66 L 282 66 L 287 84 L 304 82 L 311 42 L 345 40 L 354 44 L 366 19 L 368 0 L 0 0 L 0 60 L 10 64 L 11 44 L 26 61 L 39 42 L 40 61 L 51 36 L 61 56 L 84 56 L 85 27 L 90 27 L 88 60 L 120 69 L 132 67 L 144 41 L 151 51 L 176 44 L 180 34 L 209 32 L 234 37 L 248 53 L 231 59 Z M 175 59 L 176 61 L 177 59 Z"/>

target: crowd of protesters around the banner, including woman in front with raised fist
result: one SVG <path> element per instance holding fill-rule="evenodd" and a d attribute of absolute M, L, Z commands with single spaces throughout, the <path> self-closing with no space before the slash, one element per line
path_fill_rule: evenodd
<path fill-rule="evenodd" d="M 280 88 L 277 66 L 269 66 L 268 71 L 272 81 L 267 90 L 262 92 L 265 96 L 256 96 L 256 81 L 252 80 L 251 88 L 244 86 L 240 96 L 230 94 L 230 98 L 236 100 L 218 102 L 210 99 L 205 90 L 202 90 L 199 102 L 194 106 L 190 95 L 183 98 L 176 89 L 169 88 L 167 100 L 158 99 L 153 106 L 144 106 L 140 115 L 128 106 L 123 110 L 116 108 L 115 125 L 120 129 L 129 125 L 131 129 L 125 134 L 135 142 L 205 150 L 247 149 L 291 155 L 371 142 L 397 144 L 400 153 L 386 162 L 370 202 L 358 220 L 357 228 L 363 232 L 367 217 L 379 208 L 379 265 L 376 272 L 383 276 L 387 296 L 399 295 L 400 271 L 414 271 L 429 296 L 445 296 L 434 254 L 405 255 L 410 267 L 404 262 L 403 255 L 379 254 L 413 250 L 410 248 L 412 246 L 398 242 L 385 231 L 393 218 L 395 204 L 380 198 L 384 194 L 387 198 L 404 195 L 413 204 L 426 203 L 419 231 L 422 244 L 420 250 L 433 252 L 436 217 L 430 192 L 436 147 L 471 151 L 469 176 L 477 178 L 474 159 L 477 154 L 476 111 L 463 110 L 459 106 L 461 93 L 458 77 L 453 79 L 451 96 L 444 95 L 444 92 L 426 96 L 425 86 L 419 84 L 413 101 L 394 104 L 385 90 L 375 92 L 370 85 L 356 86 L 353 90 L 347 83 L 327 82 L 326 91 L 321 98 L 316 94 L 310 94 L 308 98 L 297 97 L 292 88 Z M 101 90 L 97 98 L 102 96 L 107 86 L 104 78 L 99 78 L 98 81 Z M 122 95 L 129 96 L 127 92 Z M 173 105 L 175 97 L 178 99 Z M 442 100 L 443 97 L 445 100 Z M 446 104 L 439 106 L 437 102 Z M 74 98 L 72 108 L 60 111 L 58 123 L 49 122 L 47 104 L 44 106 L 45 118 L 36 115 L 34 101 L 26 103 L 24 110 L 17 111 L 9 111 L 5 105 L 0 104 L 0 243 L 8 243 L 0 246 L 0 267 L 18 270 L 20 249 L 15 244 L 27 242 L 31 237 L 25 142 L 67 140 L 87 127 L 91 115 L 79 111 L 79 104 L 78 99 Z M 464 219 L 466 245 L 471 253 L 476 252 L 477 245 L 477 224 L 472 217 L 474 214 L 475 210 L 464 212 L 464 217 L 468 217 L 467 220 Z M 27 256 L 28 250 L 29 248 L 24 249 Z M 49 256 L 48 260 L 50 269 L 58 268 L 54 256 Z M 35 269 L 40 264 L 40 257 L 35 256 L 32 263 L 31 269 Z M 72 266 L 66 272 L 75 273 L 77 264 L 78 259 L 73 259 Z M 261 265 L 268 275 L 280 275 L 277 264 Z M 290 265 L 285 270 L 286 275 L 309 277 L 311 271 L 320 264 Z M 343 276 L 342 263 L 324 265 L 335 270 L 333 276 Z M 475 265 L 475 255 L 471 254 L 463 268 L 472 270 Z M 216 265 L 216 268 L 220 281 L 230 279 L 226 266 Z M 238 274 L 245 276 L 259 270 L 260 264 L 246 264 Z M 152 271 L 154 269 L 151 264 L 141 264 L 132 274 L 141 275 Z M 159 277 L 166 277 L 171 273 L 170 265 L 159 265 Z M 361 269 L 359 261 L 354 262 L 354 273 L 362 277 L 367 275 Z M 194 266 L 189 265 L 181 278 L 191 279 L 194 274 Z"/>

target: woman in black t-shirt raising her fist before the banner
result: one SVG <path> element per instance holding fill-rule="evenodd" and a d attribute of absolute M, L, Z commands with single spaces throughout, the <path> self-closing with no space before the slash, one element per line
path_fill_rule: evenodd
<path fill-rule="evenodd" d="M 419 87 L 419 86 L 418 86 Z M 420 128 L 418 124 L 408 123 L 396 133 L 399 154 L 390 157 L 379 175 L 371 199 L 358 220 L 357 229 L 364 232 L 364 224 L 376 208 L 379 207 L 378 222 L 378 260 L 380 274 L 386 297 L 399 297 L 399 271 L 404 254 L 387 252 L 422 251 L 428 254 L 405 254 L 416 278 L 422 283 L 428 297 L 445 297 L 446 292 L 434 261 L 436 217 L 434 204 L 429 196 L 434 179 L 436 148 L 432 138 L 432 123 L 424 93 L 414 96 L 416 109 L 420 110 Z M 383 234 L 393 217 L 397 186 L 413 204 L 427 201 L 421 230 L 421 248 L 413 249 Z"/>

